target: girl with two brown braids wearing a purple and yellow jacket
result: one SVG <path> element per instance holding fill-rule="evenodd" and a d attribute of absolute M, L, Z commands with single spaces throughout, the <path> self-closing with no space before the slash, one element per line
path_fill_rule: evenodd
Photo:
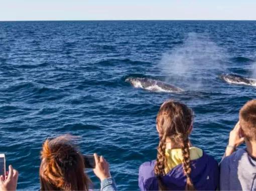
<path fill-rule="evenodd" d="M 217 189 L 217 161 L 192 146 L 189 140 L 192 110 L 183 103 L 167 100 L 161 105 L 156 122 L 159 133 L 157 159 L 140 166 L 141 190 Z"/>

